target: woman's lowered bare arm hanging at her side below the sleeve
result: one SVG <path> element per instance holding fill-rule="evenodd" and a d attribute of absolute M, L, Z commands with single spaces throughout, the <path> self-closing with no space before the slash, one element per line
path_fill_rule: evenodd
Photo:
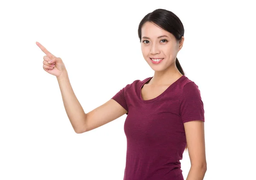
<path fill-rule="evenodd" d="M 207 171 L 204 121 L 184 123 L 191 168 L 186 180 L 203 180 Z"/>

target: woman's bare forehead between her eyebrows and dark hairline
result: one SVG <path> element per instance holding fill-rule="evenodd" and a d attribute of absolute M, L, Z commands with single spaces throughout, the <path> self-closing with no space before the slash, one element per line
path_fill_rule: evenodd
<path fill-rule="evenodd" d="M 159 36 L 166 35 L 172 38 L 172 34 L 164 29 L 160 28 L 158 25 L 146 22 L 141 28 L 141 37 L 157 38 Z"/>

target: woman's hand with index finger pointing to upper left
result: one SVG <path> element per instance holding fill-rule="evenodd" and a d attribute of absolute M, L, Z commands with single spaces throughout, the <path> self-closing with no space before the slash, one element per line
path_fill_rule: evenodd
<path fill-rule="evenodd" d="M 36 42 L 36 45 L 38 45 L 38 47 L 46 54 L 43 61 L 44 70 L 47 73 L 52 74 L 56 77 L 60 76 L 65 69 L 64 62 L 61 60 L 61 58 L 56 57 L 52 53 L 47 51 L 47 49 L 44 48 L 44 46 L 41 45 L 39 42 Z"/>

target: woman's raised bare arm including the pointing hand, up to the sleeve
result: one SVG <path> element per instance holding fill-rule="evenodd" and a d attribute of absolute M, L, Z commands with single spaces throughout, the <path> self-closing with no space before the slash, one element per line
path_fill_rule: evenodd
<path fill-rule="evenodd" d="M 64 108 L 76 133 L 90 131 L 128 113 L 113 99 L 110 99 L 105 104 L 102 104 L 89 113 L 84 113 L 71 87 L 68 73 L 62 59 L 47 51 L 39 42 L 36 42 L 36 44 L 46 54 L 43 61 L 44 70 L 57 77 Z"/>

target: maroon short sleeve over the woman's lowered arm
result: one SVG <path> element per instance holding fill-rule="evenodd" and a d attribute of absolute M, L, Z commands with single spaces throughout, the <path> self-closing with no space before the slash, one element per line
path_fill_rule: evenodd
<path fill-rule="evenodd" d="M 189 82 L 183 87 L 180 96 L 180 115 L 183 123 L 196 120 L 204 121 L 204 103 L 195 82 Z"/>

